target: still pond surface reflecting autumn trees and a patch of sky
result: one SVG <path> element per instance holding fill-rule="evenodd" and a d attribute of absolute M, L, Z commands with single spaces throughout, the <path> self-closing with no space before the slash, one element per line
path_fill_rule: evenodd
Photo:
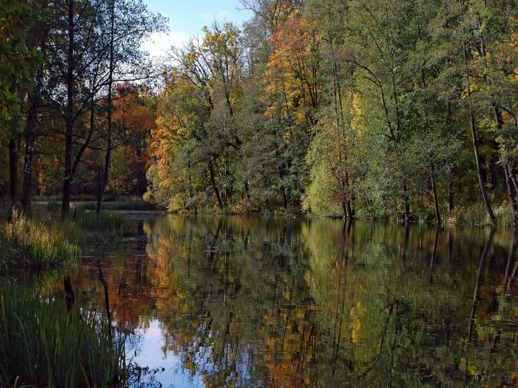
<path fill-rule="evenodd" d="M 136 386 L 518 383 L 510 231 L 134 215 L 70 273 L 130 333 Z M 148 368 L 148 369 L 147 369 Z"/>

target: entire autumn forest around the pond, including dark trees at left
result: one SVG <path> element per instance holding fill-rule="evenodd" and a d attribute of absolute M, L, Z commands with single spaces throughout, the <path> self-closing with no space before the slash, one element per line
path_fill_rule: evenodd
<path fill-rule="evenodd" d="M 158 60 L 140 0 L 0 5 L 3 195 L 518 225 L 518 6 L 242 0 Z M 478 218 L 477 218 L 478 217 Z"/>

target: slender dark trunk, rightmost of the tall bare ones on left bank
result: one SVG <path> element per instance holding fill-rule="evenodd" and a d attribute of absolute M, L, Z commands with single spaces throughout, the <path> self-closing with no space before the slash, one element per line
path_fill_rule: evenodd
<path fill-rule="evenodd" d="M 114 24 L 115 24 L 115 0 L 111 0 L 110 3 L 110 68 L 108 72 L 108 112 L 107 112 L 107 124 L 108 124 L 108 138 L 106 139 L 106 157 L 104 157 L 104 175 L 101 190 L 99 190 L 97 197 L 97 214 L 101 213 L 102 210 L 102 197 L 104 195 L 104 191 L 106 190 L 106 185 L 108 184 L 108 175 L 110 173 L 110 160 L 111 160 L 111 149 L 112 149 L 112 110 L 113 110 L 113 98 L 112 98 L 112 88 L 113 88 L 113 68 L 114 64 Z"/>

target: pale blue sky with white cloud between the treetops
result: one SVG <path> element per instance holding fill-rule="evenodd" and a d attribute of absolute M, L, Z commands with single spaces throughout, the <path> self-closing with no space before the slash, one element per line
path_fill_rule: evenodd
<path fill-rule="evenodd" d="M 171 46 L 181 46 L 215 19 L 241 26 L 251 17 L 250 11 L 240 10 L 239 0 L 144 0 L 144 3 L 152 12 L 169 18 L 168 34 L 155 34 L 142 46 L 155 56 L 163 55 Z"/>

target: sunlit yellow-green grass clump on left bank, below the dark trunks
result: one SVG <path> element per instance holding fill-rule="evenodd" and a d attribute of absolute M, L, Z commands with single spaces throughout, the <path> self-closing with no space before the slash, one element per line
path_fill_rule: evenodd
<path fill-rule="evenodd" d="M 49 269 L 74 264 L 79 256 L 77 244 L 70 242 L 55 226 L 13 215 L 0 225 L 0 251 L 8 268 Z"/>

